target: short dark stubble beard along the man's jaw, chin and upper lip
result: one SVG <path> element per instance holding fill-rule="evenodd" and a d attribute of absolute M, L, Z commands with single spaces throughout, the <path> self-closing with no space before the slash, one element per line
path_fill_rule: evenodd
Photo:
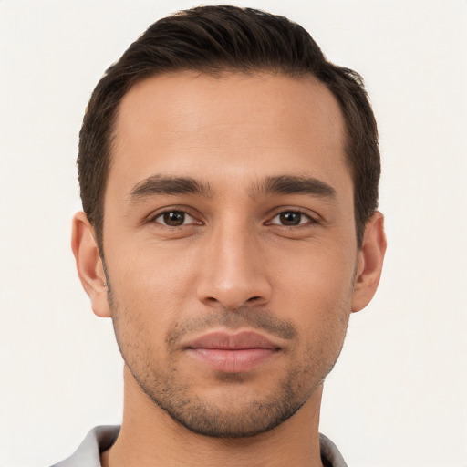
<path fill-rule="evenodd" d="M 300 365 L 291 366 L 285 377 L 278 381 L 274 391 L 266 394 L 258 394 L 254 400 L 244 401 L 233 396 L 234 391 L 229 391 L 228 387 L 241 385 L 244 383 L 242 374 L 219 373 L 217 380 L 219 385 L 226 387 L 223 396 L 216 400 L 205 400 L 196 394 L 190 385 L 190 380 L 179 375 L 175 356 L 170 351 L 168 365 L 157 365 L 157 351 L 150 346 L 150 342 L 145 342 L 141 347 L 141 336 L 137 329 L 143 327 L 131 324 L 126 309 L 121 309 L 116 303 L 108 277 L 108 297 L 109 305 L 112 309 L 112 320 L 115 329 L 117 343 L 125 364 L 130 369 L 133 378 L 137 381 L 140 389 L 156 404 L 164 410 L 172 420 L 181 424 L 188 430 L 213 438 L 246 438 L 254 437 L 265 431 L 275 429 L 285 420 L 292 417 L 308 400 L 315 390 L 323 383 L 327 374 L 334 367 L 337 357 L 343 344 L 336 349 L 334 356 L 329 359 L 326 352 L 327 339 L 323 342 L 315 342 L 309 346 L 305 352 L 307 358 Z M 134 311 L 134 310 L 133 310 Z M 133 316 L 134 317 L 134 316 Z M 254 327 L 258 328 L 258 322 L 271 331 L 271 327 L 292 326 L 285 322 L 272 318 L 271 314 L 263 311 L 258 314 L 251 308 L 236 311 L 221 310 L 203 320 L 203 326 L 207 322 L 222 324 L 232 329 L 243 325 L 251 325 L 252 317 Z M 188 328 L 192 327 L 190 324 Z M 341 327 L 339 327 L 340 329 Z M 347 322 L 343 330 L 344 334 Z M 133 330 L 133 332 L 132 332 Z M 289 333 L 293 333 L 296 338 L 296 330 L 288 328 Z M 330 330 L 333 332 L 333 329 Z M 286 334 L 284 331 L 283 334 Z M 166 344 L 171 348 L 171 343 L 180 337 L 180 330 L 173 331 L 166 339 Z M 294 362 L 290 359 L 289 362 Z M 161 367 L 161 368 L 160 368 Z"/>

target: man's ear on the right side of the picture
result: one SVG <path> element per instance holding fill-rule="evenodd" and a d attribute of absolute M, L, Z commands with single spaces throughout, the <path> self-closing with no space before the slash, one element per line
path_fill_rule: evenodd
<path fill-rule="evenodd" d="M 363 244 L 358 251 L 352 312 L 365 308 L 375 295 L 383 267 L 386 245 L 384 217 L 377 211 L 365 226 Z"/>

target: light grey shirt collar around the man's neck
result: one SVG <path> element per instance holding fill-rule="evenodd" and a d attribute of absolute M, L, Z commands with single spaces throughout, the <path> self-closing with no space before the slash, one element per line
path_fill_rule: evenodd
<path fill-rule="evenodd" d="M 100 453 L 108 450 L 117 440 L 119 430 L 119 425 L 94 428 L 71 457 L 52 467 L 101 467 Z M 336 445 L 324 434 L 319 435 L 319 447 L 325 467 L 348 467 Z"/>

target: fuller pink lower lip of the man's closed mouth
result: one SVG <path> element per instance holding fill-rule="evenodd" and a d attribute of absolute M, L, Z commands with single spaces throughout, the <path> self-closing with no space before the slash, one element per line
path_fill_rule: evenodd
<path fill-rule="evenodd" d="M 274 348 L 238 348 L 225 350 L 221 348 L 190 348 L 192 357 L 217 371 L 225 373 L 241 373 L 249 371 L 273 357 Z"/>

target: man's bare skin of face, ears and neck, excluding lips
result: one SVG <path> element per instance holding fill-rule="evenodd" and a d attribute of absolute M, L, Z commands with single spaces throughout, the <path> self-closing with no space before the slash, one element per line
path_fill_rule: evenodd
<path fill-rule="evenodd" d="M 322 383 L 386 249 L 380 213 L 357 247 L 336 99 L 310 77 L 180 72 L 131 88 L 115 136 L 107 277 L 84 213 L 72 239 L 126 362 L 103 465 L 321 466 Z M 181 177 L 202 189 L 175 190 Z M 187 348 L 213 331 L 254 331 L 275 350 L 213 368 Z"/>

